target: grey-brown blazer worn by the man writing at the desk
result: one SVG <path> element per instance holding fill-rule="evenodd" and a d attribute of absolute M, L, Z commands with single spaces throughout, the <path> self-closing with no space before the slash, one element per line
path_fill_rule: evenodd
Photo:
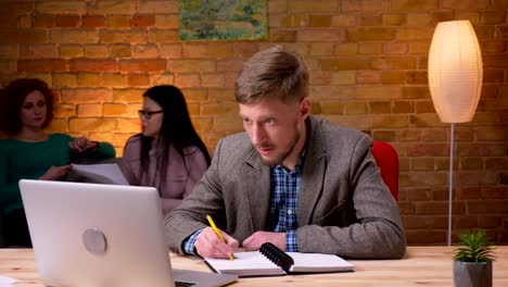
<path fill-rule="evenodd" d="M 297 208 L 301 252 L 347 258 L 401 258 L 406 244 L 397 204 L 370 153 L 371 139 L 310 116 L 307 155 Z M 261 162 L 249 136 L 220 140 L 212 165 L 194 191 L 165 217 L 173 251 L 206 227 L 206 214 L 241 244 L 268 230 L 270 169 Z"/>

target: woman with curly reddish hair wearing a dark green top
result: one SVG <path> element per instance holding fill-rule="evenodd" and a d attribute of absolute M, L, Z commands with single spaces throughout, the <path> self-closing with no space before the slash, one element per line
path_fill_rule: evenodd
<path fill-rule="evenodd" d="M 53 118 L 53 93 L 37 78 L 13 80 L 1 91 L 0 219 L 7 246 L 30 246 L 18 182 L 22 178 L 63 179 L 72 157 L 115 157 L 107 142 L 47 134 Z"/>

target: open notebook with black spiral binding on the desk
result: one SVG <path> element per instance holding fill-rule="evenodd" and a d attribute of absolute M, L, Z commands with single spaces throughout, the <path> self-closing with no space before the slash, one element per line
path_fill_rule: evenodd
<path fill-rule="evenodd" d="M 205 262 L 217 273 L 240 277 L 354 271 L 353 264 L 338 255 L 283 252 L 272 244 L 264 244 L 259 251 L 234 253 L 232 261 L 205 258 Z"/>

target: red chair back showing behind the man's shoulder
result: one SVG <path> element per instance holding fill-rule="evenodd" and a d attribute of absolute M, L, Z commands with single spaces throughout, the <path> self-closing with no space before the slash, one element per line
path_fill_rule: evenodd
<path fill-rule="evenodd" d="M 390 188 L 392 196 L 398 201 L 398 154 L 397 151 L 385 141 L 373 141 L 372 155 L 381 170 L 381 177 Z"/>

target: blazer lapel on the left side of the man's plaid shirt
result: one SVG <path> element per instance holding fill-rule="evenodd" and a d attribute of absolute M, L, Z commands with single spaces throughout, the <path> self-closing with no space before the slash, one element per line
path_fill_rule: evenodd
<path fill-rule="evenodd" d="M 270 167 L 262 163 L 257 151 L 253 149 L 243 164 L 242 173 L 249 199 L 251 226 L 253 232 L 265 230 L 270 205 Z"/>

